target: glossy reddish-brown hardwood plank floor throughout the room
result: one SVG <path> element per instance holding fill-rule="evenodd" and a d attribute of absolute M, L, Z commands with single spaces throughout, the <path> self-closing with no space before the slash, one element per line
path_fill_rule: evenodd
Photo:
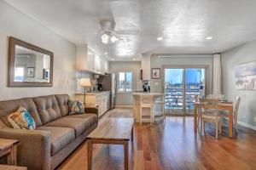
<path fill-rule="evenodd" d="M 102 117 L 132 117 L 131 109 L 114 109 Z M 150 127 L 134 126 L 129 143 L 129 169 L 256 169 L 256 132 L 240 127 L 238 136 L 228 138 L 228 127 L 215 139 L 214 126 L 207 124 L 206 136 L 194 133 L 193 117 L 167 116 L 166 122 Z M 132 152 L 132 153 L 131 153 Z M 87 169 L 86 142 L 64 161 L 59 170 Z M 124 169 L 122 145 L 94 144 L 93 169 Z"/>

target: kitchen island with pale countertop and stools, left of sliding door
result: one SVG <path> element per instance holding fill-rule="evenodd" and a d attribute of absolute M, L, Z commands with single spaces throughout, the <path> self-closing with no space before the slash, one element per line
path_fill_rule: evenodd
<path fill-rule="evenodd" d="M 133 117 L 136 122 L 160 122 L 166 117 L 165 94 L 133 93 Z"/>

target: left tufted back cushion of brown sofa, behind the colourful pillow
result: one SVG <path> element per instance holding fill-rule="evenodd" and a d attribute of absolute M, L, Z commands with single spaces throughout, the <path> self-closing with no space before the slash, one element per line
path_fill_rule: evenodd
<path fill-rule="evenodd" d="M 37 127 L 42 125 L 37 107 L 32 98 L 24 98 L 0 101 L 0 118 L 8 127 L 12 127 L 8 121 L 8 116 L 17 111 L 20 106 L 24 107 L 31 114 Z"/>

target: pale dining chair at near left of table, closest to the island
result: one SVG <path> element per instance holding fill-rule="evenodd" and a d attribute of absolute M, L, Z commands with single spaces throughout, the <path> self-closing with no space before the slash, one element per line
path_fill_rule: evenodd
<path fill-rule="evenodd" d="M 200 134 L 202 135 L 202 126 L 205 133 L 206 122 L 213 122 L 216 125 L 216 139 L 218 139 L 218 132 L 221 133 L 222 117 L 218 116 L 218 99 L 199 99 L 200 101 Z M 205 109 L 206 105 L 211 109 Z"/>

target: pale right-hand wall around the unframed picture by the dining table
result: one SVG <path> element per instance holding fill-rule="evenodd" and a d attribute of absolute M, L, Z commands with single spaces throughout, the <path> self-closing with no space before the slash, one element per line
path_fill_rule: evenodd
<path fill-rule="evenodd" d="M 256 90 L 236 90 L 235 66 L 256 60 L 256 41 L 247 42 L 221 54 L 223 89 L 226 99 L 241 96 L 238 121 L 256 129 Z"/>

